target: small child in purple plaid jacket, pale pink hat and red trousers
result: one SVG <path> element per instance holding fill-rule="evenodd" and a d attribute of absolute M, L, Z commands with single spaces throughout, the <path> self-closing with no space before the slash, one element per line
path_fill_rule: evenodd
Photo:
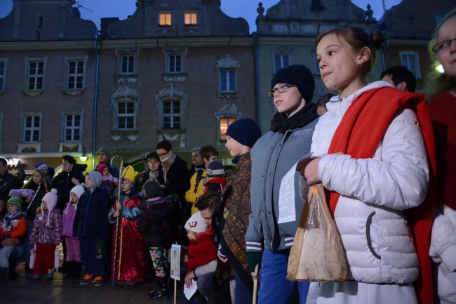
<path fill-rule="evenodd" d="M 36 258 L 32 279 L 36 281 L 43 272 L 47 273 L 46 280 L 54 278 L 55 246 L 62 242 L 62 215 L 57 205 L 57 190 L 44 194 L 41 210 L 36 213 L 33 221 L 30 244 L 36 244 Z"/>

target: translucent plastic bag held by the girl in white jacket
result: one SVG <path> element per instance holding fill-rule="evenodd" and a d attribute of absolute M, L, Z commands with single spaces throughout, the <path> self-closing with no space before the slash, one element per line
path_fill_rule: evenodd
<path fill-rule="evenodd" d="M 322 184 L 310 187 L 288 259 L 290 281 L 346 281 L 347 256 Z"/>

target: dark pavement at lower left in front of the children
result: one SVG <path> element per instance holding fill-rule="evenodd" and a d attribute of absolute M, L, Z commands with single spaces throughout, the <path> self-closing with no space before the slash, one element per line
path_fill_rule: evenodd
<path fill-rule="evenodd" d="M 168 298 L 154 300 L 147 298 L 155 283 L 138 285 L 135 289 L 113 289 L 112 282 L 95 287 L 93 284 L 83 286 L 79 279 L 64 279 L 61 273 L 55 273 L 53 281 L 41 277 L 32 281 L 31 273 L 24 273 L 24 263 L 14 270 L 18 277 L 11 281 L 0 283 L 0 304 L 167 304 L 174 303 L 172 292 Z M 177 289 L 177 302 L 183 302 L 182 287 Z"/>

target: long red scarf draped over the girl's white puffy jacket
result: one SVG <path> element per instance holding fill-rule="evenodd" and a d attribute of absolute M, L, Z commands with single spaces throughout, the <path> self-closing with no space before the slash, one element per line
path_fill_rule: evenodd
<path fill-rule="evenodd" d="M 429 159 L 429 190 L 420 206 L 407 211 L 410 227 L 415 238 L 420 276 L 414 282 L 418 303 L 431 304 L 432 273 L 429 243 L 434 211 L 436 151 L 431 116 L 426 97 L 396 88 L 376 88 L 363 93 L 353 101 L 342 117 L 331 140 L 328 154 L 344 152 L 355 159 L 373 157 L 378 144 L 398 110 L 410 108 L 417 114 Z M 330 193 L 330 210 L 334 214 L 340 194 Z"/>

